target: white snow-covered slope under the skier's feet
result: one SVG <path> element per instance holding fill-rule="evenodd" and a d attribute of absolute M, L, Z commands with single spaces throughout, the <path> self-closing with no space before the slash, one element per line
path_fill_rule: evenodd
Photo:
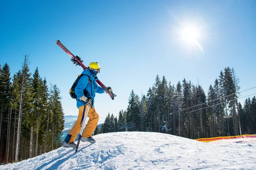
<path fill-rule="evenodd" d="M 150 132 L 105 133 L 0 170 L 256 170 L 256 139 L 198 142 Z"/>

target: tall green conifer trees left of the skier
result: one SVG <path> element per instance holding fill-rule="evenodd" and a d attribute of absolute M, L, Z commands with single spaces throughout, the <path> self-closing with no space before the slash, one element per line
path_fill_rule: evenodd
<path fill-rule="evenodd" d="M 47 86 L 38 68 L 29 71 L 29 58 L 10 77 L 0 67 L 0 163 L 29 159 L 60 146 L 64 113 L 57 85 Z"/>

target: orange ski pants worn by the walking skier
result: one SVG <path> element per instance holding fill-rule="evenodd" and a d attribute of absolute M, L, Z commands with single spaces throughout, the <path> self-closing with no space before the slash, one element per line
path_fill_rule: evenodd
<path fill-rule="evenodd" d="M 97 124 L 98 124 L 99 115 L 96 112 L 95 108 L 92 108 L 91 106 L 88 106 L 88 105 L 84 105 L 84 106 L 79 107 L 79 113 L 78 113 L 78 118 L 76 120 L 76 123 L 73 125 L 72 129 L 68 133 L 69 135 L 71 135 L 69 143 L 74 142 L 75 139 L 76 139 L 77 134 L 80 133 L 81 126 L 82 126 L 81 119 L 82 119 L 82 116 L 83 116 L 83 112 L 85 112 L 85 110 L 86 110 L 86 108 L 84 108 L 85 106 L 86 106 L 86 108 L 90 107 L 88 115 L 87 115 L 87 117 L 89 117 L 89 120 L 88 120 L 88 122 L 87 122 L 87 124 L 84 128 L 84 132 L 82 134 L 82 137 L 88 138 L 88 137 L 92 136 L 92 134 L 93 134 L 93 132 L 94 132 L 94 130 L 95 130 Z M 85 119 L 85 113 L 84 113 L 84 119 Z"/>

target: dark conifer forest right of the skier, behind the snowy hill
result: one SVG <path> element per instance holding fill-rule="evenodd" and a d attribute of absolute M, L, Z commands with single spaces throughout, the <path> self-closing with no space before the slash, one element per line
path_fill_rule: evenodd
<path fill-rule="evenodd" d="M 148 131 L 189 139 L 255 134 L 256 98 L 240 103 L 239 92 L 239 77 L 229 67 L 207 91 L 185 78 L 172 85 L 157 75 L 147 94 L 131 91 L 128 108 L 118 118 L 108 114 L 101 133 Z"/>

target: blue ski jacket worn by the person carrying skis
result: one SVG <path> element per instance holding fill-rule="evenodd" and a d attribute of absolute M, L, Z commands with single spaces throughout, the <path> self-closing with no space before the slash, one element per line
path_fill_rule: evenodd
<path fill-rule="evenodd" d="M 75 92 L 77 95 L 77 97 L 76 97 L 76 107 L 77 108 L 85 105 L 85 103 L 79 99 L 81 96 L 84 95 L 84 89 L 88 92 L 86 97 L 90 97 L 93 100 L 93 104 L 94 104 L 95 93 L 99 93 L 99 94 L 104 93 L 104 89 L 96 83 L 96 80 L 98 79 L 96 77 L 96 75 L 92 74 L 89 71 L 89 69 L 84 70 L 82 72 L 82 74 L 86 74 L 86 75 L 82 76 L 79 79 L 79 82 L 77 83 L 76 88 L 75 88 Z M 89 84 L 88 84 L 88 81 L 89 81 L 88 76 L 90 77 Z M 94 107 L 94 105 L 93 105 L 93 107 Z"/>

